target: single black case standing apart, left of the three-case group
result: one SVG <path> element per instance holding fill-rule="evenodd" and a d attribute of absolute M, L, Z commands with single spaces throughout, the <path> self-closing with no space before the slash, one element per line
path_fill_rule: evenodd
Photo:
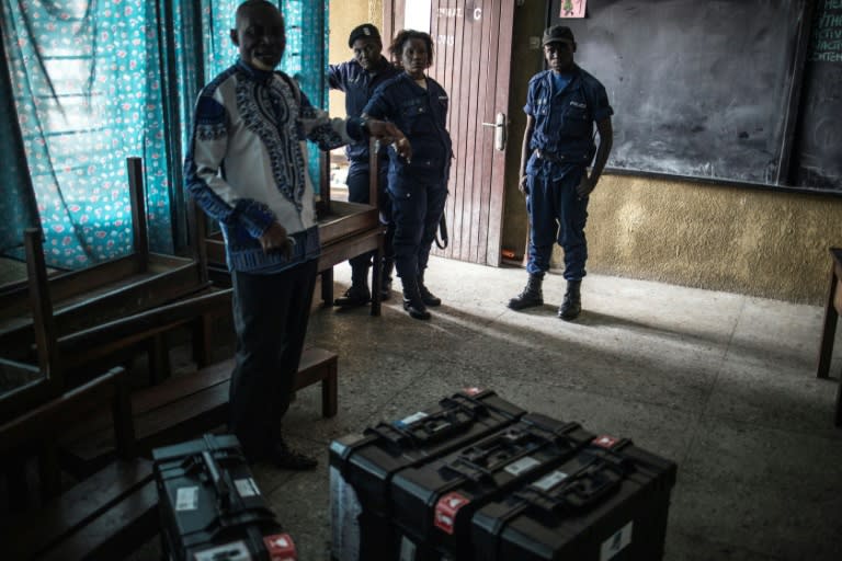
<path fill-rule="evenodd" d="M 164 559 L 295 561 L 234 435 L 152 450 Z"/>

